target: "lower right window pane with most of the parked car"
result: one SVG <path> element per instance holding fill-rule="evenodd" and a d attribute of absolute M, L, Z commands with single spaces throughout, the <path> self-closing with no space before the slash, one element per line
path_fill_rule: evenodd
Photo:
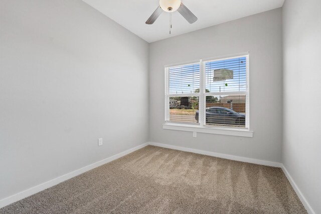
<path fill-rule="evenodd" d="M 206 96 L 206 124 L 245 127 L 245 95 Z"/>

